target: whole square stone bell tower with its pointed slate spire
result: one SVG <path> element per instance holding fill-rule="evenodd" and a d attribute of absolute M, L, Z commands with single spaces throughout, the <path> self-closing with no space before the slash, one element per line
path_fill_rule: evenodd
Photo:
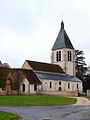
<path fill-rule="evenodd" d="M 65 74 L 75 76 L 75 50 L 61 22 L 61 29 L 52 48 L 51 63 L 62 67 Z"/>

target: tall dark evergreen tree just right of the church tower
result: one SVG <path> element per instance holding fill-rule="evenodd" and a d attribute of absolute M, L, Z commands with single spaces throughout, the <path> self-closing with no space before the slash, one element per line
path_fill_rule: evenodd
<path fill-rule="evenodd" d="M 85 57 L 83 51 L 75 50 L 76 55 L 76 76 L 84 81 L 85 74 L 87 71 L 86 63 L 85 63 Z"/>

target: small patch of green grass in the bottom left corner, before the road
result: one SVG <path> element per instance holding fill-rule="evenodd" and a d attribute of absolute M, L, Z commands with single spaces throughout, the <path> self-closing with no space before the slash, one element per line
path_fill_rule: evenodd
<path fill-rule="evenodd" d="M 19 118 L 18 115 L 9 112 L 0 112 L 0 120 L 13 120 Z"/>

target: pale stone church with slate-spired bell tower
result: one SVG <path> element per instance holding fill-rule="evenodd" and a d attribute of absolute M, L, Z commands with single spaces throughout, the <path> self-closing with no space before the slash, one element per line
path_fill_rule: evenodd
<path fill-rule="evenodd" d="M 51 63 L 25 60 L 22 69 L 32 70 L 40 84 L 30 84 L 27 78 L 24 79 L 20 85 L 21 94 L 70 94 L 83 91 L 82 81 L 75 74 L 75 49 L 63 21 L 52 47 Z"/>

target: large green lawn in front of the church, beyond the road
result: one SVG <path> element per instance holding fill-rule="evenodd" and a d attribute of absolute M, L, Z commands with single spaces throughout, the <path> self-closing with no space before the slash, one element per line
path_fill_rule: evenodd
<path fill-rule="evenodd" d="M 0 106 L 66 105 L 76 102 L 75 98 L 44 95 L 0 96 Z"/>

